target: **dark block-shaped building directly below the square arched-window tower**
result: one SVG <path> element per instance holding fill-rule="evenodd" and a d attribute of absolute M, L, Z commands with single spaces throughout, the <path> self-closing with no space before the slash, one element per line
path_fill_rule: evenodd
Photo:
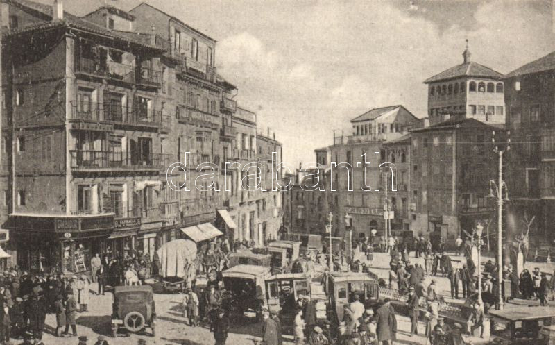
<path fill-rule="evenodd" d="M 497 176 L 493 131 L 477 119 L 450 119 L 411 133 L 411 228 L 452 245 L 477 221 L 496 224 L 489 180 Z"/>

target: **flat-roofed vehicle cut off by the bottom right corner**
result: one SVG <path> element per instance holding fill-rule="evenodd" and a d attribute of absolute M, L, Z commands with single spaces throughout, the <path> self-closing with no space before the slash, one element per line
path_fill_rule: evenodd
<path fill-rule="evenodd" d="M 547 345 L 552 341 L 550 330 L 555 308 L 505 308 L 490 310 L 489 316 L 495 326 L 491 330 L 491 341 L 488 344 Z"/>

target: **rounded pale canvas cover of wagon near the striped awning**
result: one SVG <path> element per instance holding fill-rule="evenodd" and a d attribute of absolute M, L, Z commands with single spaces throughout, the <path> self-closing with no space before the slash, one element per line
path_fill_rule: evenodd
<path fill-rule="evenodd" d="M 187 278 L 189 265 L 196 258 L 196 243 L 190 239 L 175 239 L 157 250 L 160 258 L 160 274 L 163 277 Z"/>

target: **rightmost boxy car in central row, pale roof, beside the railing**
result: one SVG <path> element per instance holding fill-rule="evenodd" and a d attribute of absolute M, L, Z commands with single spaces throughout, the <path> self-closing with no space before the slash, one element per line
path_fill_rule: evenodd
<path fill-rule="evenodd" d="M 359 272 L 332 272 L 327 277 L 327 319 L 334 324 L 343 320 L 343 305 L 359 295 L 367 309 L 379 302 L 379 286 L 375 274 Z"/>

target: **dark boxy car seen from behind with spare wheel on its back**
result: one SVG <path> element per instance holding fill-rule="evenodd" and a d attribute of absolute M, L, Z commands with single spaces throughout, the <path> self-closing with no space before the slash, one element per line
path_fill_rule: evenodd
<path fill-rule="evenodd" d="M 152 287 L 117 286 L 114 288 L 112 304 L 112 335 L 117 336 L 119 327 L 137 333 L 144 328 L 151 328 L 155 335 L 156 311 Z"/>

